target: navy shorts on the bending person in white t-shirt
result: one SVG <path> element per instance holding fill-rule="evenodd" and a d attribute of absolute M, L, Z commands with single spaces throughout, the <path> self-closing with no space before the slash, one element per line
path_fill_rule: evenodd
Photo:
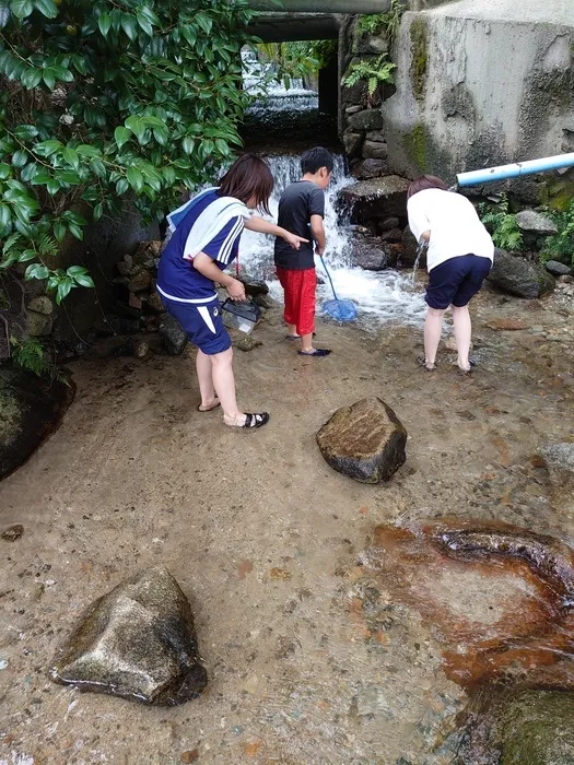
<path fill-rule="evenodd" d="M 436 266 L 430 273 L 425 301 L 431 308 L 462 308 L 479 292 L 492 262 L 478 255 L 462 255 Z"/>

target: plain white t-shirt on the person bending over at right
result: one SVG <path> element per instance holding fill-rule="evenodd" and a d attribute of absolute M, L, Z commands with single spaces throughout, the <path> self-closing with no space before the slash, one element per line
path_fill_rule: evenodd
<path fill-rule="evenodd" d="M 409 226 L 417 242 L 431 232 L 426 255 L 429 271 L 445 260 L 478 255 L 494 260 L 494 244 L 472 203 L 460 193 L 425 189 L 407 203 Z"/>

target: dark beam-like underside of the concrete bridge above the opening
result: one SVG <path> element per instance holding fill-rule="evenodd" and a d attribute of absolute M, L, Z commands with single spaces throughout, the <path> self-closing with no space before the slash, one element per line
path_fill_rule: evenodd
<path fill-rule="evenodd" d="M 335 13 L 261 13 L 249 31 L 265 43 L 337 39 L 339 16 Z"/>

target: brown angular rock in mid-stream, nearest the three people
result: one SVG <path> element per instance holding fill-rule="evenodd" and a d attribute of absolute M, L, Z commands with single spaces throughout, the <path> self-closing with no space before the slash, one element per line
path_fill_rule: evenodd
<path fill-rule="evenodd" d="M 333 470 L 361 483 L 390 481 L 407 460 L 407 431 L 377 398 L 339 409 L 318 432 L 317 444 Z"/>

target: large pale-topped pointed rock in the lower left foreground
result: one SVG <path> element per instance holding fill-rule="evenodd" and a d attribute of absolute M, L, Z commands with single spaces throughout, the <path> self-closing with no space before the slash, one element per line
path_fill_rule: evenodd
<path fill-rule="evenodd" d="M 191 607 L 169 572 L 148 568 L 92 603 L 50 676 L 80 691 L 157 706 L 197 698 L 207 672 Z"/>

